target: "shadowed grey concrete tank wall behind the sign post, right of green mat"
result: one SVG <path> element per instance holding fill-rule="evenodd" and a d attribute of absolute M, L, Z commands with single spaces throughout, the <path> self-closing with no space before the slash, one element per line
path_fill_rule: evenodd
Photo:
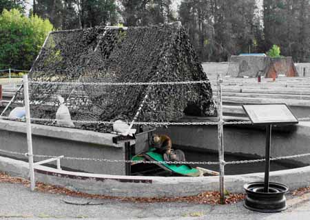
<path fill-rule="evenodd" d="M 172 143 L 218 151 L 217 126 L 170 126 L 158 132 L 169 135 Z M 273 128 L 271 157 L 289 156 L 310 152 L 310 122 L 300 122 L 287 128 Z M 249 154 L 265 157 L 265 130 L 250 126 L 224 126 L 224 149 L 228 153 Z M 295 158 L 294 161 L 310 164 L 310 157 Z"/>

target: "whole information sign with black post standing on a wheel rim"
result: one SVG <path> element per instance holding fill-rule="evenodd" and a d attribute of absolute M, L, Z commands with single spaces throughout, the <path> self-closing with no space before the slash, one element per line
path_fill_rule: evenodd
<path fill-rule="evenodd" d="M 286 104 L 243 105 L 254 125 L 266 126 L 265 181 L 245 184 L 245 208 L 258 212 L 280 212 L 287 209 L 285 194 L 289 190 L 281 183 L 269 182 L 271 128 L 273 125 L 298 123 Z"/>

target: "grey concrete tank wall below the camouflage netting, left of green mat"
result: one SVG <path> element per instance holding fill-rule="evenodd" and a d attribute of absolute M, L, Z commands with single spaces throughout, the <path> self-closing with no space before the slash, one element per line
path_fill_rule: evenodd
<path fill-rule="evenodd" d="M 115 136 L 115 134 L 103 134 L 72 128 L 32 125 L 34 154 L 124 160 L 124 143 L 112 143 L 112 137 Z M 25 153 L 28 151 L 27 149 L 25 123 L 0 120 L 0 150 Z M 26 159 L 23 155 L 12 155 L 4 152 L 0 152 L 0 154 Z M 34 158 L 35 161 L 44 159 L 46 158 Z M 125 174 L 124 163 L 61 159 L 61 166 L 83 172 Z"/>

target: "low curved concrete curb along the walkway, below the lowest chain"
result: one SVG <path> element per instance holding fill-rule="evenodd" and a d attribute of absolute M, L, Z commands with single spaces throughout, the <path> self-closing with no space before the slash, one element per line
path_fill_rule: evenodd
<path fill-rule="evenodd" d="M 0 157 L 0 170 L 28 177 L 28 163 Z M 90 174 L 36 166 L 37 181 L 90 194 L 115 197 L 184 197 L 218 190 L 218 177 L 130 177 Z M 225 176 L 225 189 L 243 193 L 245 183 L 262 181 L 263 173 Z M 270 173 L 270 180 L 284 183 L 290 190 L 310 185 L 310 166 Z"/>

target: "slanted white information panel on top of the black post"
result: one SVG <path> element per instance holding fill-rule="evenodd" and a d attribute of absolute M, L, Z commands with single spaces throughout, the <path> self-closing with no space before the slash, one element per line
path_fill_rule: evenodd
<path fill-rule="evenodd" d="M 286 104 L 249 104 L 242 108 L 254 124 L 298 123 Z"/>

